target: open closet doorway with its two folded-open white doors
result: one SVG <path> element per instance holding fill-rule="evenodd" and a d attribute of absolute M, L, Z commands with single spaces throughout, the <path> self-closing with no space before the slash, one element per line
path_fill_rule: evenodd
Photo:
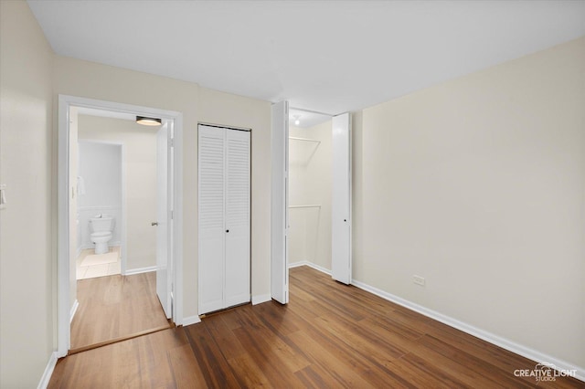
<path fill-rule="evenodd" d="M 281 271 L 282 264 L 306 265 L 350 284 L 350 114 L 289 110 L 286 101 L 274 104 L 272 160 L 272 246 L 283 247 L 272 251 L 272 268 L 277 269 L 271 275 L 272 298 L 288 302 L 288 271 Z"/>

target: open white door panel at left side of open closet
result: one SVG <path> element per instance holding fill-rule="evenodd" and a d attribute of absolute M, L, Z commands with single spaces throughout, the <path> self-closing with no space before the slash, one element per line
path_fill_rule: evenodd
<path fill-rule="evenodd" d="M 289 103 L 272 105 L 271 297 L 289 302 Z"/>

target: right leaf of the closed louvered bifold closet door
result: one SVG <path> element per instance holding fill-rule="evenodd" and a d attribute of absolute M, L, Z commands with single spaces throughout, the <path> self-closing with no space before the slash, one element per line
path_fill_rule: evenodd
<path fill-rule="evenodd" d="M 226 307 L 250 301 L 250 131 L 227 130 Z"/>

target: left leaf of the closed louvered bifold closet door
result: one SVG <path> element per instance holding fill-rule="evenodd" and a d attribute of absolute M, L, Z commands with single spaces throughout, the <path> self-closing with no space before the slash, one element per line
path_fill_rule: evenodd
<path fill-rule="evenodd" d="M 225 137 L 199 126 L 199 314 L 224 308 Z"/>

